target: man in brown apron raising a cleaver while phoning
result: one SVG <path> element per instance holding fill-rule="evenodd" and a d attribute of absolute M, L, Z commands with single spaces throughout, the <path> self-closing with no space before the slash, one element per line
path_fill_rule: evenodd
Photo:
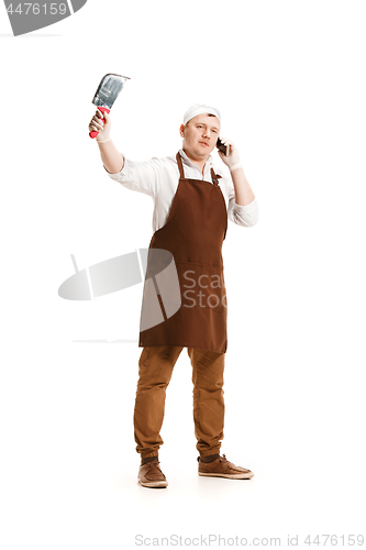
<path fill-rule="evenodd" d="M 154 200 L 154 235 L 149 252 L 168 251 L 179 280 L 178 310 L 167 315 L 164 285 L 156 285 L 164 321 L 147 329 L 141 324 L 143 348 L 134 409 L 136 451 L 141 454 L 138 483 L 166 487 L 159 468 L 159 431 L 164 419 L 166 387 L 174 365 L 187 348 L 192 364 L 193 420 L 199 475 L 251 479 L 253 472 L 220 455 L 223 438 L 223 371 L 226 352 L 226 300 L 221 249 L 228 219 L 243 227 L 257 222 L 258 206 L 245 177 L 237 147 L 223 140 L 226 155 L 219 152 L 231 178 L 217 175 L 211 153 L 221 129 L 221 116 L 210 106 L 191 106 L 180 125 L 182 147 L 176 156 L 147 162 L 126 160 L 111 136 L 111 117 L 99 111 L 89 131 L 97 131 L 101 160 L 112 179 L 149 195 Z M 148 272 L 147 264 L 147 272 Z M 144 287 L 145 301 L 147 272 Z M 157 278 L 157 277 L 156 277 Z M 159 286 L 160 285 L 160 286 Z M 155 294 L 156 296 L 156 294 Z M 165 310 L 166 309 L 166 310 Z M 177 461 L 184 450 L 177 450 Z"/>

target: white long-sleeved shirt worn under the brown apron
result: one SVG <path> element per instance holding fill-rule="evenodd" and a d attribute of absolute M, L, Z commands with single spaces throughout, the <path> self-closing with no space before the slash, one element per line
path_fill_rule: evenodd
<path fill-rule="evenodd" d="M 199 167 L 188 158 L 182 150 L 179 153 L 186 178 L 202 179 L 212 184 L 211 166 L 213 167 L 213 164 L 211 156 L 206 163 L 202 175 Z M 152 197 L 154 201 L 153 231 L 155 232 L 165 226 L 173 198 L 177 191 L 180 175 L 176 156 L 154 157 L 145 162 L 129 161 L 124 155 L 122 156 L 124 158 L 122 170 L 118 174 L 108 173 L 108 175 L 123 187 Z M 220 174 L 220 169 L 217 170 L 214 167 L 213 169 L 215 174 Z M 256 198 L 249 205 L 236 205 L 234 185 L 231 178 L 222 177 L 218 182 L 225 200 L 229 220 L 245 228 L 254 226 L 259 216 Z"/>

